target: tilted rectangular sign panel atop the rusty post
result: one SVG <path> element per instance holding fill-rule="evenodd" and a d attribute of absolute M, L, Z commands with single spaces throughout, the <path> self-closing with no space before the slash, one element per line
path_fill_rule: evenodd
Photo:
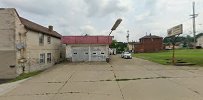
<path fill-rule="evenodd" d="M 183 24 L 177 25 L 167 30 L 168 36 L 175 36 L 183 33 Z"/>

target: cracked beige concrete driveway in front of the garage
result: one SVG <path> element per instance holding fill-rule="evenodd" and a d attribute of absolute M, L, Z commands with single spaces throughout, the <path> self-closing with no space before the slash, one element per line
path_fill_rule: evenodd
<path fill-rule="evenodd" d="M 203 68 L 112 56 L 110 63 L 64 63 L 0 100 L 203 100 Z"/>

